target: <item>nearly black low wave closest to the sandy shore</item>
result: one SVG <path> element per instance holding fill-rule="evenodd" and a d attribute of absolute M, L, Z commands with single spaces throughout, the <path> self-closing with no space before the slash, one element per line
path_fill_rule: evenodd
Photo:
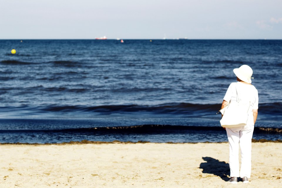
<path fill-rule="evenodd" d="M 185 125 L 134 125 L 134 126 L 115 126 L 115 127 L 82 127 L 67 129 L 17 129 L 0 130 L 6 132 L 60 132 L 60 133 L 103 133 L 103 134 L 183 134 L 185 132 L 224 132 L 220 126 L 185 126 Z M 254 134 L 282 134 L 282 128 L 276 127 L 255 127 Z"/>

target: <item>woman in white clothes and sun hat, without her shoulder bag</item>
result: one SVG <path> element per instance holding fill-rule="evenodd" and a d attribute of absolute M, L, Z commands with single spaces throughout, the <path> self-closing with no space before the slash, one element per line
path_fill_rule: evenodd
<path fill-rule="evenodd" d="M 229 182 L 236 184 L 237 177 L 241 177 L 243 183 L 248 183 L 251 176 L 251 142 L 254 125 L 258 115 L 258 90 L 251 85 L 253 70 L 248 65 L 235 68 L 237 81 L 231 83 L 223 98 L 221 109 L 229 102 L 236 102 L 236 89 L 240 91 L 241 100 L 250 101 L 248 120 L 245 126 L 226 128 L 229 142 Z M 241 148 L 241 169 L 239 171 L 239 145 Z"/>

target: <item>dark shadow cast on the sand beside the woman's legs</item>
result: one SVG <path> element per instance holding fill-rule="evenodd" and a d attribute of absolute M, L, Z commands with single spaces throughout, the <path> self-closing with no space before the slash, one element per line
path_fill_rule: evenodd
<path fill-rule="evenodd" d="M 199 168 L 203 169 L 203 173 L 214 174 L 216 176 L 219 176 L 224 181 L 229 180 L 229 177 L 227 177 L 230 172 L 229 163 L 219 161 L 212 157 L 202 157 L 202 159 L 204 161 L 207 161 L 200 164 Z"/>

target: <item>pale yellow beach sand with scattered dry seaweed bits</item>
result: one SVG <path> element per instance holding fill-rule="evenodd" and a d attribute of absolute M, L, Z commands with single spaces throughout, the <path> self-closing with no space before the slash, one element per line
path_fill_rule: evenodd
<path fill-rule="evenodd" d="M 0 187 L 282 187 L 282 143 L 253 143 L 249 184 L 228 143 L 0 145 Z"/>

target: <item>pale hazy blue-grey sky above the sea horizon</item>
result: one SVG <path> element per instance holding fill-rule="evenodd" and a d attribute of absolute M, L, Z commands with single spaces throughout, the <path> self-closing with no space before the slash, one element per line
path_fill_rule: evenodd
<path fill-rule="evenodd" d="M 282 0 L 0 0 L 1 39 L 282 39 Z"/>

